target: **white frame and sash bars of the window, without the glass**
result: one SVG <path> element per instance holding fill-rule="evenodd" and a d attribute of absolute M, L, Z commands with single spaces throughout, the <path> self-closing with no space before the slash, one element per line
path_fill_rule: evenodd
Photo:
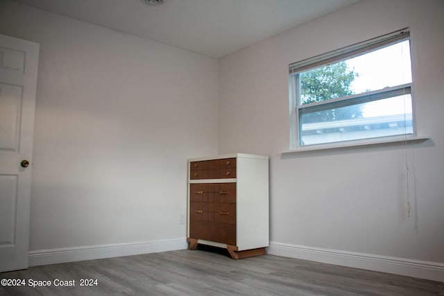
<path fill-rule="evenodd" d="M 351 96 L 344 96 L 341 98 L 334 98 L 327 101 L 314 102 L 309 104 L 301 105 L 299 87 L 296 87 L 298 83 L 298 73 L 308 71 L 309 69 L 314 69 L 322 67 L 327 64 L 332 64 L 334 62 L 341 62 L 342 60 L 348 60 L 354 58 L 358 55 L 365 53 L 370 53 L 377 49 L 382 49 L 384 46 L 389 46 L 404 40 L 410 40 L 410 30 L 409 28 L 403 28 L 402 30 L 395 31 L 380 37 L 373 38 L 366 42 L 359 42 L 357 44 L 352 44 L 351 46 L 346 46 L 342 49 L 336 51 L 330 51 L 322 55 L 317 55 L 313 58 L 302 60 L 289 65 L 289 102 L 290 102 L 290 149 L 291 150 L 318 150 L 325 148 L 339 148 L 342 146 L 360 146 L 366 145 L 367 143 L 386 143 L 390 141 L 398 141 L 399 139 L 417 139 L 416 138 L 416 120 L 414 114 L 414 103 L 413 96 L 411 96 L 412 104 L 412 125 L 413 134 L 401 134 L 397 136 L 389 137 L 377 137 L 377 138 L 366 138 L 353 141 L 338 141 L 334 143 L 319 143 L 314 145 L 300 145 L 300 114 L 302 112 L 307 112 L 307 110 L 331 110 L 335 107 L 344 107 L 347 105 L 354 105 L 356 103 L 367 103 L 371 101 L 377 101 L 383 98 L 390 98 L 396 95 L 411 94 L 412 83 L 407 83 L 404 85 L 397 85 L 395 87 L 378 89 L 373 92 L 366 92 L 363 94 L 353 94 Z"/>

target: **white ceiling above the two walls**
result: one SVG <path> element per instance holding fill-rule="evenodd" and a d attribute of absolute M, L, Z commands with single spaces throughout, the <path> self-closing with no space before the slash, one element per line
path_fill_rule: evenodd
<path fill-rule="evenodd" d="M 359 0 L 15 0 L 220 58 Z"/>

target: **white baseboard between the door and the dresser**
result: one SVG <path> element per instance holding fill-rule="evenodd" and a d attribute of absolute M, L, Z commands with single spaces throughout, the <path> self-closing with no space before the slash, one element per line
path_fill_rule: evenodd
<path fill-rule="evenodd" d="M 63 247 L 59 249 L 35 250 L 28 253 L 29 265 L 47 265 L 73 261 L 131 256 L 156 252 L 187 249 L 187 239 L 90 245 L 85 247 Z"/>

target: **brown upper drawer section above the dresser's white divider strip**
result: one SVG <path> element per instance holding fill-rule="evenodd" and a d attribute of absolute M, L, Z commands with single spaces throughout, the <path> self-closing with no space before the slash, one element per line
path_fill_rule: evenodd
<path fill-rule="evenodd" d="M 191 180 L 226 179 L 236 177 L 236 158 L 204 160 L 190 162 Z"/>

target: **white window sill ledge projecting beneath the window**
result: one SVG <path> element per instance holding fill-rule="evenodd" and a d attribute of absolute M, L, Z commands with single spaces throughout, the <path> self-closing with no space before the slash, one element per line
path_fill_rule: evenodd
<path fill-rule="evenodd" d="M 307 152 L 307 151 L 340 149 L 340 148 L 359 147 L 359 146 L 374 146 L 374 145 L 385 144 L 385 143 L 422 142 L 422 141 L 427 141 L 428 139 L 430 139 L 430 137 L 416 136 L 416 135 L 381 137 L 381 138 L 377 138 L 377 139 L 343 141 L 343 142 L 338 142 L 338 143 L 326 143 L 326 144 L 301 146 L 301 147 L 298 147 L 294 150 L 282 151 L 281 154 L 302 153 L 302 152 Z"/>

